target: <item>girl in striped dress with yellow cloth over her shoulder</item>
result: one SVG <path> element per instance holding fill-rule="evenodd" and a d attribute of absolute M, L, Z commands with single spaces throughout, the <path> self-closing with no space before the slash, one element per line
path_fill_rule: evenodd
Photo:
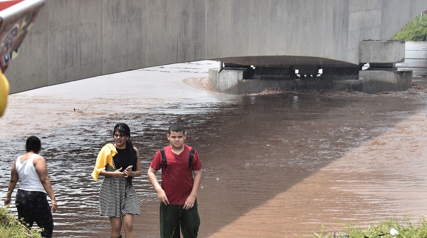
<path fill-rule="evenodd" d="M 92 177 L 104 176 L 99 189 L 101 216 L 110 217 L 111 238 L 120 238 L 122 225 L 126 238 L 134 238 L 134 215 L 141 215 L 137 193 L 132 184 L 141 176 L 140 154 L 132 145 L 131 130 L 125 123 L 114 127 L 114 144 L 102 147 L 96 159 Z"/>

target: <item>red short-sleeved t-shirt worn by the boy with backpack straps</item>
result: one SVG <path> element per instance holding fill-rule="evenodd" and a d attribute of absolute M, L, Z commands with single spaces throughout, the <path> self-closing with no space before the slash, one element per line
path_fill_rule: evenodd
<path fill-rule="evenodd" d="M 167 159 L 167 168 L 163 166 L 160 150 L 157 151 L 150 166 L 154 170 L 161 172 L 161 187 L 166 192 L 167 199 L 171 205 L 184 205 L 185 199 L 190 195 L 193 189 L 193 170 L 201 170 L 197 151 L 194 153 L 191 168 L 188 168 L 188 158 L 190 157 L 191 147 L 184 145 L 184 150 L 177 155 L 172 152 L 170 145 L 164 147 L 164 153 Z"/>

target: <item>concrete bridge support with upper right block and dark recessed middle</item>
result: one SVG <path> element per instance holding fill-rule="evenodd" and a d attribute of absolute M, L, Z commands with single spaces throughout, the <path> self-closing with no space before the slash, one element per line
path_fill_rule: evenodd
<path fill-rule="evenodd" d="M 209 70 L 209 82 L 214 89 L 228 94 L 261 93 L 269 88 L 284 90 L 353 90 L 364 93 L 404 91 L 412 87 L 412 70 L 398 70 L 396 62 L 405 59 L 405 42 L 362 41 L 360 64 L 348 67 L 307 65 L 322 69 L 321 74 L 295 73 L 298 66 L 266 67 L 227 63 Z M 362 70 L 362 66 L 369 67 Z"/>

